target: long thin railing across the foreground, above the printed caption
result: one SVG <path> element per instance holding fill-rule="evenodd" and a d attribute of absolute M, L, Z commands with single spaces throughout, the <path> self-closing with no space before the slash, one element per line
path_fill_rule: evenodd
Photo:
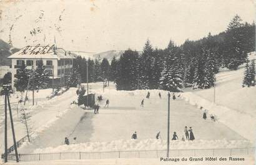
<path fill-rule="evenodd" d="M 241 156 L 255 154 L 255 148 L 233 149 L 171 149 L 170 158 L 179 156 Z M 116 158 L 165 158 L 166 150 L 106 151 L 77 153 L 19 154 L 20 161 L 46 161 L 62 159 L 116 159 Z M 4 154 L 2 154 L 2 159 Z M 16 161 L 15 154 L 8 154 L 7 160 Z"/>

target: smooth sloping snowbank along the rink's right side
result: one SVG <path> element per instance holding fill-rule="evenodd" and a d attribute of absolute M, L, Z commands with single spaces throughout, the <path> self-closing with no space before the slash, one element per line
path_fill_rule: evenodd
<path fill-rule="evenodd" d="M 204 107 L 203 110 L 208 110 L 210 114 L 217 116 L 218 121 L 224 123 L 230 129 L 236 131 L 241 136 L 250 141 L 255 141 L 255 118 L 247 113 L 231 110 L 226 106 L 216 105 L 212 101 L 206 100 L 192 92 L 182 93 L 182 98 L 189 101 L 190 104 Z M 230 98 L 232 99 L 232 98 Z"/>

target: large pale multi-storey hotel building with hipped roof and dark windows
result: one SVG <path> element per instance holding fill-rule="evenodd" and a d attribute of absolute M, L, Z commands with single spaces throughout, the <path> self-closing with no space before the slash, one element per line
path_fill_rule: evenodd
<path fill-rule="evenodd" d="M 75 55 L 61 48 L 37 45 L 24 47 L 8 58 L 11 59 L 11 85 L 14 89 L 15 75 L 19 72 L 21 65 L 25 64 L 27 69 L 36 68 L 40 60 L 50 75 L 52 85 L 65 85 L 66 77 L 73 67 Z"/>

